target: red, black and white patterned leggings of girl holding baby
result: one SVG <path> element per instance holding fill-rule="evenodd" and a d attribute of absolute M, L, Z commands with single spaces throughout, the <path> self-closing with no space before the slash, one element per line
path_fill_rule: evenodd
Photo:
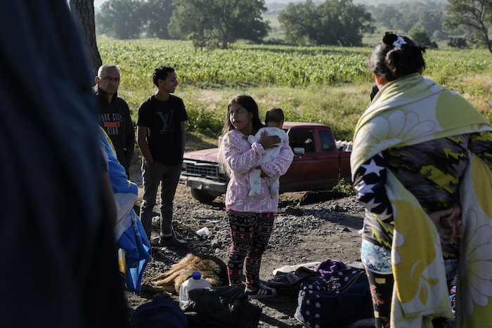
<path fill-rule="evenodd" d="M 231 253 L 227 271 L 231 286 L 242 286 L 242 266 L 246 263 L 246 284 L 259 285 L 261 256 L 273 230 L 274 213 L 239 213 L 228 210 L 231 227 Z"/>

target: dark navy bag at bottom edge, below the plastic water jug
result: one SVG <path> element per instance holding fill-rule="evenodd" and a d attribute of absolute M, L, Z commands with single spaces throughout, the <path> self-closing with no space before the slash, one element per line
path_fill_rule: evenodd
<path fill-rule="evenodd" d="M 187 328 L 183 310 L 171 299 L 157 299 L 138 306 L 130 318 L 132 328 Z"/>

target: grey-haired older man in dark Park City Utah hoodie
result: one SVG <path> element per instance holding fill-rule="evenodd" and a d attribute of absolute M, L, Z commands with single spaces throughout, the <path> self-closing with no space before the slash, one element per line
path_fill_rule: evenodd
<path fill-rule="evenodd" d="M 93 91 L 99 104 L 99 125 L 108 133 L 115 146 L 118 162 L 130 178 L 129 167 L 134 155 L 135 131 L 127 102 L 118 97 L 119 70 L 115 65 L 102 65 L 95 80 L 96 86 L 93 87 Z"/>

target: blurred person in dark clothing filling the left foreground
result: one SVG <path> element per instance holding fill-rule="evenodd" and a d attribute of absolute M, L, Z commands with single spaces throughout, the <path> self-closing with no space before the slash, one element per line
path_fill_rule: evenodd
<path fill-rule="evenodd" d="M 0 1 L 0 31 L 0 327 L 129 327 L 115 197 L 67 0 Z"/>

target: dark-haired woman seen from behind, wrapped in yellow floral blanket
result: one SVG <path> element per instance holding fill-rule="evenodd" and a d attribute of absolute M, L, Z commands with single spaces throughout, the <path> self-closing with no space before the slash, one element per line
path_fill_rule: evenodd
<path fill-rule="evenodd" d="M 380 91 L 354 134 L 376 327 L 446 327 L 456 274 L 457 327 L 490 327 L 492 126 L 421 76 L 424 51 L 384 35 L 368 62 Z"/>

